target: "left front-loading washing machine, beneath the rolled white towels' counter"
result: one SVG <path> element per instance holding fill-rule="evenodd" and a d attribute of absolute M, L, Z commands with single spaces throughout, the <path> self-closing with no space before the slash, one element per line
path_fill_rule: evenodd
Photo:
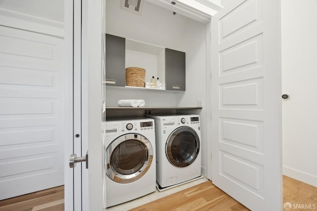
<path fill-rule="evenodd" d="M 104 166 L 107 207 L 156 190 L 155 122 L 148 118 L 107 120 Z"/>

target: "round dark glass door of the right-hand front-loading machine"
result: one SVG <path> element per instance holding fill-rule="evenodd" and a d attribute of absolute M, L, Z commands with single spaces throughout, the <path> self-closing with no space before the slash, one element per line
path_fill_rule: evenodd
<path fill-rule="evenodd" d="M 168 137 L 165 153 L 169 162 L 177 167 L 185 167 L 195 161 L 200 149 L 200 140 L 191 127 L 175 129 Z"/>

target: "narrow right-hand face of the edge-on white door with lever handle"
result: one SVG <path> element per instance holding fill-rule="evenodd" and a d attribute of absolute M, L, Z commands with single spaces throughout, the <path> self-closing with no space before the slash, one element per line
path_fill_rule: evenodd
<path fill-rule="evenodd" d="M 102 142 L 102 62 L 103 18 L 106 0 L 85 0 L 87 5 L 87 97 L 88 105 L 88 196 L 89 210 L 104 210 L 103 142 Z M 98 12 L 99 11 L 99 12 Z M 94 71 L 95 70 L 95 71 Z"/>

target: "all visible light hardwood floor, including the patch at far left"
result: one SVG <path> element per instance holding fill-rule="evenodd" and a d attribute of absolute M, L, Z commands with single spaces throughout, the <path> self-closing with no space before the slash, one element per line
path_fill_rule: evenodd
<path fill-rule="evenodd" d="M 317 187 L 283 176 L 283 203 L 307 205 L 317 210 Z M 55 187 L 0 201 L 0 211 L 63 211 L 64 187 Z M 207 181 L 131 211 L 246 211 L 243 205 Z M 308 209 L 296 209 L 307 211 Z M 309 209 L 314 210 L 314 209 Z"/>

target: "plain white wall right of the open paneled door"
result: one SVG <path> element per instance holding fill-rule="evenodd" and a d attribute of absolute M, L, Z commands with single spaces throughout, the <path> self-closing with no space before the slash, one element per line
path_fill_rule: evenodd
<path fill-rule="evenodd" d="M 317 186 L 317 1 L 282 0 L 283 174 Z"/>

